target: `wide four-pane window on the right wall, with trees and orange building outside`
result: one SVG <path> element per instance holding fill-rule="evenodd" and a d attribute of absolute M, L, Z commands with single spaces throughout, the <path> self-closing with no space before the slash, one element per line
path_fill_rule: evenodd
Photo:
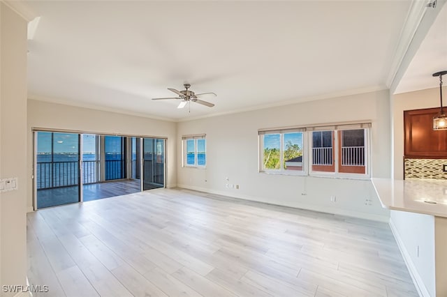
<path fill-rule="evenodd" d="M 259 130 L 260 172 L 365 177 L 370 126 Z"/>

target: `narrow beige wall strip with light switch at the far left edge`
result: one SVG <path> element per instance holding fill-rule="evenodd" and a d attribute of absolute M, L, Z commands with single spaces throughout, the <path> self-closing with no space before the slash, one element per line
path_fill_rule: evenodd
<path fill-rule="evenodd" d="M 27 22 L 0 1 L 0 178 L 18 180 L 17 190 L 0 193 L 1 285 L 26 284 L 26 147 Z"/>

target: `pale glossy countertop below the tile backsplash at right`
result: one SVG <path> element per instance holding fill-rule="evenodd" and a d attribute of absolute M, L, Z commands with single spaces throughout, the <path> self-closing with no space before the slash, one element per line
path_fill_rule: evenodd
<path fill-rule="evenodd" d="M 446 180 L 372 178 L 372 184 L 383 208 L 447 218 Z"/>

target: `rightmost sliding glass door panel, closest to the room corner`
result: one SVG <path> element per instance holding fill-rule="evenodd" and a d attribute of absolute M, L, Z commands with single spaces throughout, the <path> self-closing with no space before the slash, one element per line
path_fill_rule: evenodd
<path fill-rule="evenodd" d="M 165 186 L 165 140 L 143 138 L 143 190 Z"/>

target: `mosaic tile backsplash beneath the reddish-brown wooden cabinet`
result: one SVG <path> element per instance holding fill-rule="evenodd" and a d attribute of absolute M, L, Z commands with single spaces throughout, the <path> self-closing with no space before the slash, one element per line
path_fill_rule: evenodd
<path fill-rule="evenodd" d="M 405 159 L 405 178 L 434 178 L 447 179 L 447 172 L 443 172 L 447 159 Z"/>

